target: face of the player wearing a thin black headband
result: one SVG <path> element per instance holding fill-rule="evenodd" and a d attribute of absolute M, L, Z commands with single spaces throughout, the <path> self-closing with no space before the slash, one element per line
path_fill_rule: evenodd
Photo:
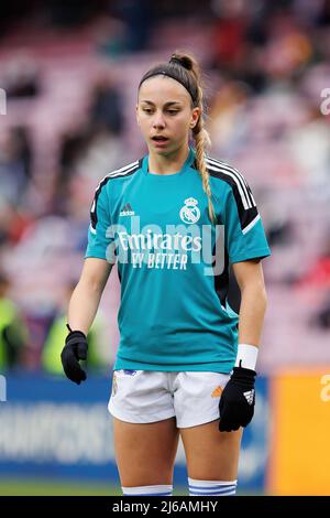
<path fill-rule="evenodd" d="M 188 145 L 199 114 L 186 88 L 172 77 L 155 76 L 142 83 L 136 117 L 150 153 L 167 155 Z"/>

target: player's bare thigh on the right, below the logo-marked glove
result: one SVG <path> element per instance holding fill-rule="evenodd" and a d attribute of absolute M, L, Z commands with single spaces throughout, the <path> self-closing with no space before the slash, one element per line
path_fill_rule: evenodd
<path fill-rule="evenodd" d="M 207 424 L 180 429 L 190 478 L 237 479 L 242 429 L 235 432 L 219 432 L 218 427 L 219 419 Z"/>

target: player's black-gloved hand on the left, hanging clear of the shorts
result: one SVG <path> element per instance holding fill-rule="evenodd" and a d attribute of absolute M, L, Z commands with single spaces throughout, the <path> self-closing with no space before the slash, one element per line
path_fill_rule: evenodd
<path fill-rule="evenodd" d="M 61 360 L 66 376 L 77 385 L 80 385 L 87 378 L 79 364 L 79 359 L 87 358 L 87 350 L 86 335 L 81 331 L 70 331 L 65 339 Z"/>

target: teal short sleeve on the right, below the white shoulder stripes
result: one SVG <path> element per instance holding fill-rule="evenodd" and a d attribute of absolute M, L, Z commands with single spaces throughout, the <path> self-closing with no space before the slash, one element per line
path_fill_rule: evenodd
<path fill-rule="evenodd" d="M 229 190 L 223 214 L 226 247 L 231 263 L 271 255 L 261 216 L 245 180 L 243 186 L 244 190 Z"/>

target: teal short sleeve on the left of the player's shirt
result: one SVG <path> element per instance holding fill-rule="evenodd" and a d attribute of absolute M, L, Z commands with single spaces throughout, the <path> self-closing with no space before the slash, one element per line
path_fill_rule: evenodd
<path fill-rule="evenodd" d="M 108 262 L 116 262 L 113 233 L 110 218 L 110 205 L 106 185 L 100 185 L 90 207 L 90 225 L 85 258 L 97 257 Z"/>

